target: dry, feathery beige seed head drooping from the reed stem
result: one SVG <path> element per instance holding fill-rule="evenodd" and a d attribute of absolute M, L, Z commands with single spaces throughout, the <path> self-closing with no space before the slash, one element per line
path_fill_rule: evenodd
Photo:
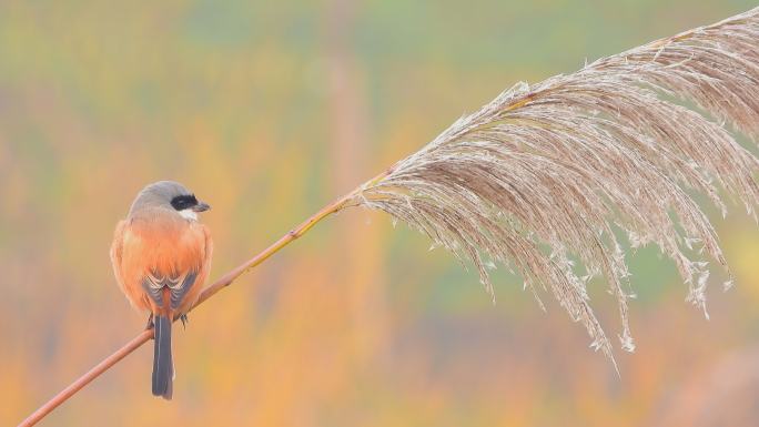
<path fill-rule="evenodd" d="M 727 263 L 692 193 L 722 214 L 730 194 L 757 218 L 759 161 L 728 124 L 756 144 L 759 8 L 573 74 L 517 83 L 365 185 L 355 202 L 474 264 L 490 294 L 493 261 L 518 272 L 538 302 L 538 291 L 550 289 L 614 362 L 586 284 L 606 278 L 621 347 L 631 352 L 623 244 L 658 245 L 689 285 L 688 301 L 706 313 L 707 258 Z"/>

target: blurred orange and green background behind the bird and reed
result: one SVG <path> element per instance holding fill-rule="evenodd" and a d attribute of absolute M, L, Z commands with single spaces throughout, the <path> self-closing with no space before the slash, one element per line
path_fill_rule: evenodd
<path fill-rule="evenodd" d="M 140 332 L 108 256 L 146 183 L 213 205 L 212 278 L 516 81 L 752 1 L 17 1 L 0 4 L 0 424 Z M 759 424 L 759 230 L 710 216 L 736 275 L 709 314 L 654 248 L 629 257 L 621 377 L 549 296 L 347 211 L 243 276 L 174 338 L 174 400 L 145 345 L 43 426 Z M 610 336 L 616 306 L 591 297 Z"/>

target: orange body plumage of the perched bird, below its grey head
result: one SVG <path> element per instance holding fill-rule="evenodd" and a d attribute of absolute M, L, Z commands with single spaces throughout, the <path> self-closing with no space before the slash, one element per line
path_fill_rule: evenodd
<path fill-rule="evenodd" d="M 211 252 L 211 236 L 203 224 L 159 212 L 119 223 L 111 258 L 119 284 L 132 305 L 153 313 L 161 307 L 145 293 L 143 282 L 148 275 L 176 277 L 196 273 L 178 307 L 179 313 L 185 313 L 200 295 Z"/>

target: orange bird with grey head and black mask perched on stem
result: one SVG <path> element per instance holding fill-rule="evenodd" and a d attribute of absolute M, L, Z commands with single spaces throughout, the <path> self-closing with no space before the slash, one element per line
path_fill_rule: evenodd
<path fill-rule="evenodd" d="M 199 213 L 211 206 L 184 185 L 159 181 L 146 185 L 117 224 L 111 263 L 131 305 L 149 312 L 154 328 L 152 393 L 171 400 L 174 365 L 171 327 L 198 301 L 211 267 L 211 232 Z"/>

